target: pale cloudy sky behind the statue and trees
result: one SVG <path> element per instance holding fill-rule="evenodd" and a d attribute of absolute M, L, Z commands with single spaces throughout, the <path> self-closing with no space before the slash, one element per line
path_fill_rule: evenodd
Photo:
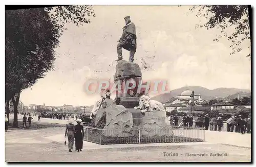
<path fill-rule="evenodd" d="M 241 52 L 229 55 L 226 38 L 212 41 L 221 34 L 218 29 L 195 29 L 204 17 L 189 13 L 190 6 L 94 6 L 96 17 L 90 24 L 67 24 L 56 48 L 54 71 L 24 90 L 20 100 L 25 104 L 60 106 L 92 105 L 99 94 L 88 95 L 84 83 L 90 78 L 111 78 L 117 62 L 116 45 L 122 34 L 124 17 L 136 25 L 135 63 L 145 59 L 151 69 L 142 69 L 143 80 L 164 79 L 168 90 L 184 86 L 207 89 L 250 89 L 251 67 L 246 58 L 249 41 Z M 228 31 L 232 31 L 229 27 Z M 123 49 L 123 58 L 129 52 Z M 152 95 L 154 96 L 154 95 Z"/>

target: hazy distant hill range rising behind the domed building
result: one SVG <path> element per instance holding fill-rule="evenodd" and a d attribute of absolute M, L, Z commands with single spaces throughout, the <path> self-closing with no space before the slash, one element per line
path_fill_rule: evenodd
<path fill-rule="evenodd" d="M 182 87 L 179 89 L 175 89 L 170 91 L 169 93 L 160 94 L 157 96 L 152 97 L 153 100 L 157 100 L 161 103 L 165 103 L 169 99 L 171 99 L 174 96 L 180 95 L 185 90 L 191 90 L 194 91 L 195 94 L 201 94 L 202 99 L 204 100 L 211 100 L 211 99 L 218 99 L 218 98 L 225 98 L 230 95 L 234 95 L 238 92 L 245 92 L 245 93 L 251 93 L 250 90 L 247 89 L 237 89 L 237 88 L 217 88 L 214 90 L 209 90 L 204 87 L 198 87 L 198 86 L 188 86 L 188 87 Z"/>

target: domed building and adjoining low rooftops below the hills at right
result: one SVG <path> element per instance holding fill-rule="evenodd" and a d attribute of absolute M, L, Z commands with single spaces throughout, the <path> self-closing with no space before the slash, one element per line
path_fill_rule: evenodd
<path fill-rule="evenodd" d="M 194 95 L 194 98 L 193 98 Z M 235 106 L 227 101 L 217 102 L 209 106 L 203 106 L 206 100 L 202 99 L 200 94 L 194 94 L 191 90 L 186 90 L 181 95 L 174 96 L 172 99 L 166 101 L 163 105 L 166 112 L 176 111 L 178 113 L 202 113 L 210 110 L 218 110 L 220 114 L 233 114 L 237 112 L 250 112 L 251 106 Z"/>

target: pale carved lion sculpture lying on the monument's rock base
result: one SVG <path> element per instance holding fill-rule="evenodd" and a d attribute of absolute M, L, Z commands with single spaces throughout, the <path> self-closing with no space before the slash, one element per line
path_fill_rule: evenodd
<path fill-rule="evenodd" d="M 153 109 L 165 112 L 162 103 L 156 100 L 151 100 L 150 97 L 146 95 L 140 97 L 139 106 L 134 107 L 134 109 L 140 109 L 141 113 L 152 112 Z"/>

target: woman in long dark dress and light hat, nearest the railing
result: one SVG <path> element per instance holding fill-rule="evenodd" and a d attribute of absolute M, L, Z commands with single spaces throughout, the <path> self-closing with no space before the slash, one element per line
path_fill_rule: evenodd
<path fill-rule="evenodd" d="M 83 144 L 83 127 L 81 125 L 82 120 L 77 119 L 76 120 L 77 125 L 75 126 L 75 142 L 76 142 L 76 151 L 82 151 L 82 144 Z"/>

